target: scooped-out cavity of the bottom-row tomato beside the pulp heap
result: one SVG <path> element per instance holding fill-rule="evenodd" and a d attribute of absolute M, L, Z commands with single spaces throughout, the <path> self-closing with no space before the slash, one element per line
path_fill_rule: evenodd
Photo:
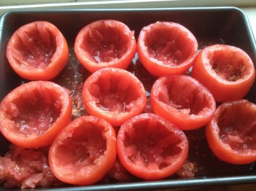
<path fill-rule="evenodd" d="M 87 128 L 81 125 L 73 128 L 72 132 L 64 132 L 61 136 L 67 138 L 55 146 L 55 157 L 61 158 L 58 167 L 68 174 L 75 174 L 81 169 L 90 172 L 107 149 L 104 132 L 104 126 L 95 128 L 90 124 Z"/>

